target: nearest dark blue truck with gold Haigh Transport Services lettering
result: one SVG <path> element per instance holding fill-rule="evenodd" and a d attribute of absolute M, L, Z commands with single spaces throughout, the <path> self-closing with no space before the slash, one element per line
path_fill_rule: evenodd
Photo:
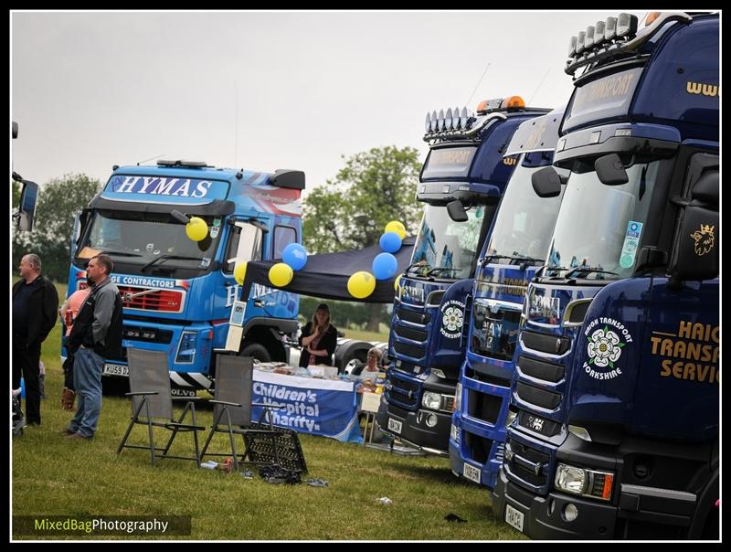
<path fill-rule="evenodd" d="M 554 156 L 571 173 L 493 494 L 533 538 L 719 536 L 719 15 L 637 27 L 571 40 Z"/>

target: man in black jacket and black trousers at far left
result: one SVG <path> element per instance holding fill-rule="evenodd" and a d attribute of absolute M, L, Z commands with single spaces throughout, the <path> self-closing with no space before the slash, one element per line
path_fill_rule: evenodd
<path fill-rule="evenodd" d="M 40 425 L 40 344 L 56 325 L 58 292 L 40 274 L 40 258 L 29 253 L 18 266 L 20 280 L 13 286 L 13 388 L 26 382 L 26 420 Z"/>

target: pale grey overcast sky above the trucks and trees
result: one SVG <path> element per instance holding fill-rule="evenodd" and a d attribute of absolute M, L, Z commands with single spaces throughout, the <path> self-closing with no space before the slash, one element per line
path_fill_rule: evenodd
<path fill-rule="evenodd" d="M 569 37 L 617 13 L 14 12 L 14 169 L 105 182 L 162 156 L 301 169 L 312 188 L 371 147 L 423 161 L 427 111 L 566 104 Z"/>

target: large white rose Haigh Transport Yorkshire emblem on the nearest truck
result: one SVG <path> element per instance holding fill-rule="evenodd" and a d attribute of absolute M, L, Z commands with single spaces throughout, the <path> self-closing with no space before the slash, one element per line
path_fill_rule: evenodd
<path fill-rule="evenodd" d="M 597 318 L 584 330 L 587 338 L 588 362 L 584 371 L 594 379 L 614 379 L 622 375 L 617 361 L 622 355 L 622 347 L 632 343 L 632 335 L 624 324 L 607 317 Z"/>

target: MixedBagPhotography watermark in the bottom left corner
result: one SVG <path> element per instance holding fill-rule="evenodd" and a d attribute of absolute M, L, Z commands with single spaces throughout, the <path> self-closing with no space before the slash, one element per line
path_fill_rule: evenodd
<path fill-rule="evenodd" d="M 190 535 L 190 515 L 14 515 L 13 535 Z"/>

